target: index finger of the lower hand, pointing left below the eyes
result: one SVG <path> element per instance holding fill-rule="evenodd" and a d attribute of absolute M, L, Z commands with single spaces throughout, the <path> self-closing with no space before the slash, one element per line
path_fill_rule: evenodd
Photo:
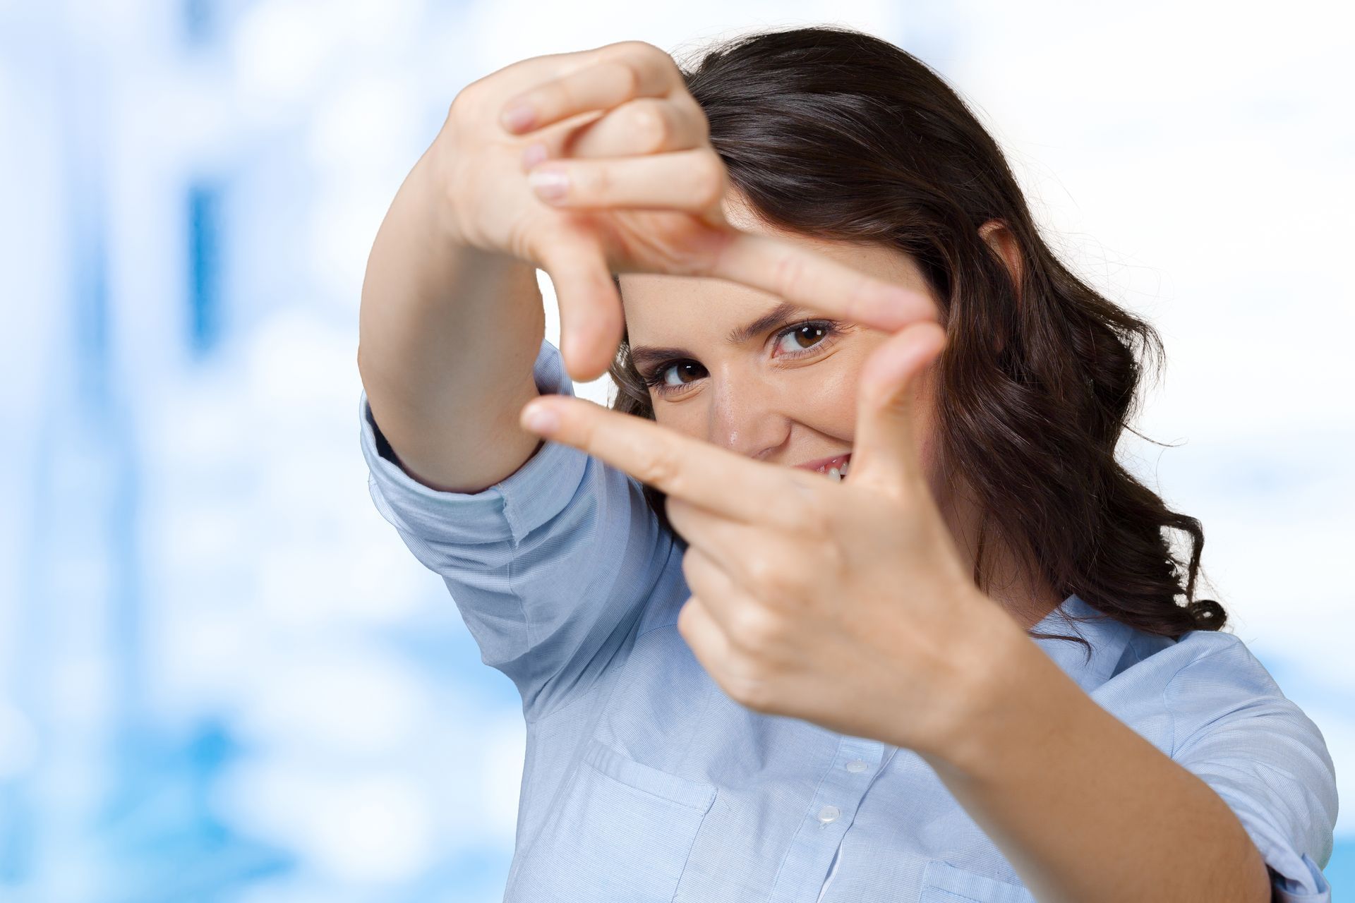
<path fill-rule="evenodd" d="M 554 414 L 554 422 L 549 414 Z M 747 524 L 786 523 L 789 506 L 797 504 L 786 490 L 812 490 L 806 481 L 821 479 L 569 395 L 531 399 L 519 422 L 528 432 L 583 449 L 668 495 Z"/>

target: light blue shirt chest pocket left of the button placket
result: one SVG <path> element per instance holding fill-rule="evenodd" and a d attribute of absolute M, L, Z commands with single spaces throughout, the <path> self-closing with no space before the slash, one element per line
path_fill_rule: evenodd
<path fill-rule="evenodd" d="M 505 899 L 668 903 L 714 801 L 714 784 L 669 774 L 591 739 Z"/>

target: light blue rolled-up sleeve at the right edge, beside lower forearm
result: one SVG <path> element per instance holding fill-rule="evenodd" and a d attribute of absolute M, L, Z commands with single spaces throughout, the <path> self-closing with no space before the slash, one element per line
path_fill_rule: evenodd
<path fill-rule="evenodd" d="M 1266 860 L 1276 900 L 1331 900 L 1322 868 L 1336 827 L 1336 770 L 1321 731 L 1237 636 L 1188 638 L 1201 654 L 1164 692 L 1172 759 L 1237 815 Z"/>

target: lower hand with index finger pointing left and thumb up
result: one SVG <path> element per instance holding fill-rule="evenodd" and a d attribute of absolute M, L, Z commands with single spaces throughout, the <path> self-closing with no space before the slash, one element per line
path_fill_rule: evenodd
<path fill-rule="evenodd" d="M 947 758 L 1024 634 L 974 586 L 920 463 L 913 383 L 944 341 L 924 321 L 867 359 L 840 483 L 579 398 L 520 422 L 667 493 L 692 593 L 678 630 L 733 700 Z"/>

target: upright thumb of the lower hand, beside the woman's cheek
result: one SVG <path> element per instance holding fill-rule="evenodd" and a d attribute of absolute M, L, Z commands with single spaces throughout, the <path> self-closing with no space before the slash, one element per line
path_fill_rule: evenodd
<path fill-rule="evenodd" d="M 862 366 L 856 386 L 854 486 L 892 495 L 924 478 L 915 431 L 919 375 L 946 347 L 946 330 L 924 320 L 894 333 Z"/>

